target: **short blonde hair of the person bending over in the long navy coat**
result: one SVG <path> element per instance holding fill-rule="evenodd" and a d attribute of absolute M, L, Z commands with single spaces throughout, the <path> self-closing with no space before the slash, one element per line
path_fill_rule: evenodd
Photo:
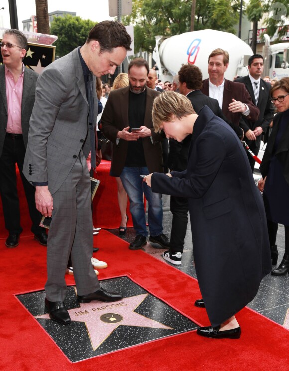
<path fill-rule="evenodd" d="M 152 121 L 154 131 L 160 132 L 163 122 L 173 121 L 172 116 L 181 119 L 196 113 L 190 100 L 182 94 L 167 91 L 159 94 L 153 102 Z"/>

